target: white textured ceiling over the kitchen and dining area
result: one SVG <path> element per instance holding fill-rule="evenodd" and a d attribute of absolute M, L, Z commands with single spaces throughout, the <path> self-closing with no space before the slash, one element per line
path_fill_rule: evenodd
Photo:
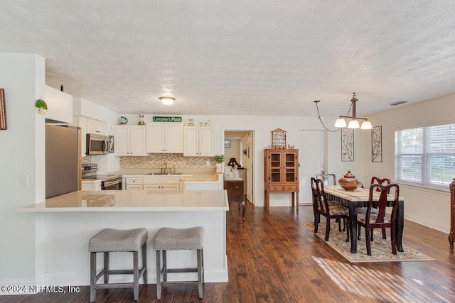
<path fill-rule="evenodd" d="M 455 93 L 454 16 L 453 0 L 1 1 L 0 52 L 124 114 L 316 116 L 320 99 L 338 116 L 355 92 L 365 116 Z"/>

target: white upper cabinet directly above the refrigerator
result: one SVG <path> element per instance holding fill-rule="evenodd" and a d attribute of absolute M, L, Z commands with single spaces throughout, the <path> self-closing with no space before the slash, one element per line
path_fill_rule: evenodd
<path fill-rule="evenodd" d="M 44 101 L 48 104 L 46 119 L 73 123 L 73 96 L 46 85 Z"/>

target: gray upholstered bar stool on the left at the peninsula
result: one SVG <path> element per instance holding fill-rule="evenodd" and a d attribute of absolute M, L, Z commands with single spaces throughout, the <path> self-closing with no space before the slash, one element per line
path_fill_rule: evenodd
<path fill-rule="evenodd" d="M 147 230 L 136 228 L 127 231 L 105 228 L 90 238 L 88 250 L 90 251 L 90 302 L 95 302 L 96 290 L 105 288 L 133 287 L 134 300 L 139 298 L 139 279 L 143 277 L 147 285 Z M 139 270 L 139 249 L 142 247 L 142 268 Z M 132 270 L 109 270 L 109 253 L 133 253 Z M 104 268 L 97 274 L 97 253 L 104 253 Z M 132 283 L 111 283 L 109 275 L 132 274 Z M 97 280 L 104 275 L 104 284 L 97 284 Z"/>

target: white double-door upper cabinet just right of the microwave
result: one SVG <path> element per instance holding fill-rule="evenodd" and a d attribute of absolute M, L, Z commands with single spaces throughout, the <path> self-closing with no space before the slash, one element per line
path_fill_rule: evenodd
<path fill-rule="evenodd" d="M 147 155 L 145 126 L 114 126 L 114 155 Z"/>

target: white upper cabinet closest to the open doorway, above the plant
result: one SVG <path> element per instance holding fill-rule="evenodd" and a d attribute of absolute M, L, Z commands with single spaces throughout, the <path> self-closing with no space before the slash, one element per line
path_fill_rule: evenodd
<path fill-rule="evenodd" d="M 186 126 L 184 132 L 184 156 L 213 156 L 213 127 Z"/>

